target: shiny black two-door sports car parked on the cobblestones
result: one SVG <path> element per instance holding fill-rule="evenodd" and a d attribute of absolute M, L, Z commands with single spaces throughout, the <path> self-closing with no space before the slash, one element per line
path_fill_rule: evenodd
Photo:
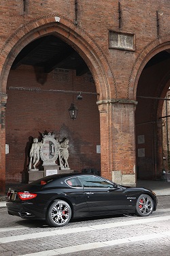
<path fill-rule="evenodd" d="M 156 195 L 146 188 L 120 186 L 97 175 L 50 175 L 7 193 L 7 210 L 21 218 L 44 219 L 61 227 L 71 218 L 110 214 L 149 216 Z"/>

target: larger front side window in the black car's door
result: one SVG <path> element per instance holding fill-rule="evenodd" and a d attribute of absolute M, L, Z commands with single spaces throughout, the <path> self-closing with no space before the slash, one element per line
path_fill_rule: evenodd
<path fill-rule="evenodd" d="M 110 184 L 100 177 L 84 175 L 78 178 L 84 188 L 114 188 L 114 184 Z"/>

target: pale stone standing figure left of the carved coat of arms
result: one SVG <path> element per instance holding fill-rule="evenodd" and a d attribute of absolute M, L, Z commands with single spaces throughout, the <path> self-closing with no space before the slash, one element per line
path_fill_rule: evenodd
<path fill-rule="evenodd" d="M 30 150 L 29 170 L 32 169 L 32 162 L 33 162 L 33 169 L 38 170 L 36 169 L 36 165 L 39 162 L 41 146 L 42 146 L 42 142 L 39 142 L 37 138 L 34 138 L 33 145 Z"/>

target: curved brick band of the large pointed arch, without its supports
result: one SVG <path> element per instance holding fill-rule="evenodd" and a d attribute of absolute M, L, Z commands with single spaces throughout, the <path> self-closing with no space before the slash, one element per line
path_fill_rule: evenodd
<path fill-rule="evenodd" d="M 56 22 L 56 17 L 60 18 L 59 22 Z M 111 87 L 114 87 L 114 98 L 118 98 L 114 73 L 103 50 L 82 27 L 79 25 L 75 26 L 73 21 L 58 14 L 39 17 L 25 23 L 1 47 L 0 63 L 2 70 L 0 87 L 3 93 L 6 90 L 7 76 L 18 53 L 33 40 L 49 34 L 54 34 L 65 40 L 86 61 L 95 80 L 99 100 L 105 100 L 111 97 Z M 107 77 L 109 77 L 109 81 Z"/>

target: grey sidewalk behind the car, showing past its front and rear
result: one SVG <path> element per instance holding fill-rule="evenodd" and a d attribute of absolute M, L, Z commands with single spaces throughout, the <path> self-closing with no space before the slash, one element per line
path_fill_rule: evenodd
<path fill-rule="evenodd" d="M 156 196 L 170 195 L 170 182 L 156 180 L 137 180 L 137 187 L 150 188 Z M 5 197 L 0 197 L 0 208 L 5 208 Z"/>

